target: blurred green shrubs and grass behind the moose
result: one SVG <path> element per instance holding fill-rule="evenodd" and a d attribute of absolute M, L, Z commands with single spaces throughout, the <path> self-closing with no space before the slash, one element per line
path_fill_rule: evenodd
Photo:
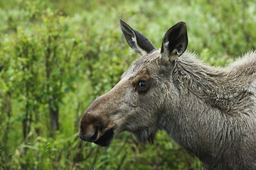
<path fill-rule="evenodd" d="M 82 142 L 80 116 L 138 58 L 119 18 L 156 47 L 185 21 L 188 50 L 224 66 L 255 50 L 255 16 L 255 0 L 0 0 L 0 169 L 203 169 L 162 131 Z"/>

